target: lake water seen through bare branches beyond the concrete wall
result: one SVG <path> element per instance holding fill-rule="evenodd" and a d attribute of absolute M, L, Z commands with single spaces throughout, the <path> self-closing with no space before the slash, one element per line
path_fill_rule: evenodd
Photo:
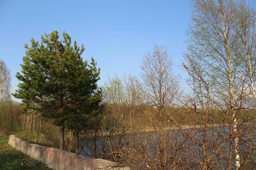
<path fill-rule="evenodd" d="M 166 161 L 172 164 L 173 161 L 179 160 L 186 164 L 185 169 L 197 169 L 201 166 L 203 160 L 202 143 L 204 129 L 194 128 L 181 130 L 166 130 L 161 138 L 160 133 L 137 133 L 134 136 L 116 135 L 102 136 L 96 139 L 96 155 L 103 159 L 113 161 L 111 150 L 120 151 L 123 154 L 131 154 L 134 150 L 134 157 L 144 158 L 156 161 L 160 159 L 160 152 L 165 153 Z M 256 126 L 239 127 L 239 153 L 241 159 L 247 159 L 245 164 L 247 168 L 256 168 Z M 211 162 L 213 169 L 227 169 L 230 154 L 230 128 L 227 126 L 209 127 L 207 131 L 207 159 Z M 162 145 L 161 145 L 161 141 Z M 84 140 L 84 148 L 81 152 L 84 156 L 92 157 L 94 155 L 94 141 L 91 139 Z M 235 165 L 234 158 L 234 142 L 232 142 L 232 160 L 231 165 Z M 163 146 L 163 147 L 161 147 Z M 118 161 L 122 161 L 123 157 L 117 157 Z M 140 162 L 143 164 L 143 161 Z M 145 164 L 145 162 L 144 162 Z M 179 164 L 179 162 L 177 162 Z"/>

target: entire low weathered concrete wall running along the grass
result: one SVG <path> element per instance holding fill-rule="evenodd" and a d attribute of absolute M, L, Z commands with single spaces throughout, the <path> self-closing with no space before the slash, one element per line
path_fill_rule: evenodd
<path fill-rule="evenodd" d="M 55 170 L 130 170 L 129 167 L 113 168 L 111 167 L 114 165 L 112 161 L 92 159 L 52 147 L 32 144 L 14 135 L 10 135 L 8 143 L 15 149 Z"/>

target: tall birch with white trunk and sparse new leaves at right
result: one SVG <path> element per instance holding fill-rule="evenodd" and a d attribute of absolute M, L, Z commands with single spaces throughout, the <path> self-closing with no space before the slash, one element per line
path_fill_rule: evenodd
<path fill-rule="evenodd" d="M 186 56 L 192 60 L 190 62 L 200 61 L 207 66 L 207 73 L 215 82 L 212 85 L 215 108 L 223 109 L 230 123 L 230 149 L 226 161 L 229 169 L 233 165 L 239 169 L 245 160 L 241 159 L 237 117 L 242 108 L 239 101 L 247 95 L 244 86 L 247 75 L 252 93 L 254 91 L 251 65 L 254 14 L 243 0 L 192 0 L 191 6 L 192 22 L 186 32 L 189 37 Z"/>

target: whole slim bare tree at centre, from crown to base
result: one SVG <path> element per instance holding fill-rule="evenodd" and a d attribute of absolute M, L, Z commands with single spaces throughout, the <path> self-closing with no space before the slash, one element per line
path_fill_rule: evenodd
<path fill-rule="evenodd" d="M 154 45 L 153 50 L 143 56 L 141 63 L 140 91 L 144 96 L 147 105 L 157 108 L 157 116 L 150 116 L 150 120 L 157 136 L 157 157 L 160 165 L 166 167 L 167 143 L 164 135 L 165 119 L 170 118 L 166 109 L 177 105 L 177 93 L 179 91 L 178 76 L 172 72 L 172 60 L 166 46 Z M 169 112 L 168 112 L 169 113 Z M 157 119 L 156 119 L 157 118 Z"/>

